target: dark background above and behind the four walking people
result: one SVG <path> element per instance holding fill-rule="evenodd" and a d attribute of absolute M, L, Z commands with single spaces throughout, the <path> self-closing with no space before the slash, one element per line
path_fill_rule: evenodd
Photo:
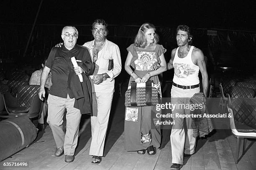
<path fill-rule="evenodd" d="M 27 64 L 40 67 L 41 59 L 48 56 L 51 47 L 62 42 L 60 34 L 65 25 L 74 25 L 79 30 L 77 44 L 93 40 L 91 24 L 97 18 L 108 23 L 107 38 L 119 46 L 123 64 L 126 48 L 133 43 L 138 28 L 149 22 L 157 28 L 159 44 L 167 49 L 167 62 L 172 49 L 177 47 L 177 25 L 186 24 L 194 30 L 193 45 L 208 57 L 209 73 L 215 66 L 248 70 L 249 64 L 249 72 L 255 70 L 255 0 L 43 0 L 25 53 L 40 2 L 1 1 L 0 58 L 4 70 L 9 66 L 3 63 L 10 63 L 13 68 Z M 218 30 L 218 36 L 208 36 L 207 30 Z M 212 58 L 209 46 L 214 52 Z M 168 75 L 164 75 L 166 79 L 172 79 L 170 72 L 164 73 Z M 124 69 L 122 73 L 128 76 Z"/>

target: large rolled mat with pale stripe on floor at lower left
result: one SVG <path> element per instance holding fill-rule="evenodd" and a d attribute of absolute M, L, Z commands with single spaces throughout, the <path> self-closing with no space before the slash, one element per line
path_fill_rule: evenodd
<path fill-rule="evenodd" d="M 27 147 L 36 139 L 36 126 L 26 116 L 0 121 L 0 161 Z"/>

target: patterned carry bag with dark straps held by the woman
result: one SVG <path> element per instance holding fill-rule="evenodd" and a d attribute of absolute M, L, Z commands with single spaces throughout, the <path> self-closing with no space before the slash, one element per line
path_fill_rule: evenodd
<path fill-rule="evenodd" d="M 148 80 L 145 87 L 137 87 L 135 81 L 131 82 L 131 89 L 125 92 L 125 106 L 154 106 L 159 104 L 161 98 L 156 87 L 152 87 L 153 81 Z"/>

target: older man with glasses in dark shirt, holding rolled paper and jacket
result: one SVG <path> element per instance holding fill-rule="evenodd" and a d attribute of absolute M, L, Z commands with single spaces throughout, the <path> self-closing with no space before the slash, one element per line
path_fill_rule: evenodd
<path fill-rule="evenodd" d="M 51 70 L 52 86 L 48 96 L 48 118 L 56 143 L 56 156 L 65 154 L 65 162 L 74 161 L 81 113 L 91 112 L 91 85 L 88 75 L 92 75 L 92 63 L 87 48 L 77 45 L 78 31 L 73 26 L 62 29 L 64 45 L 53 47 L 41 75 L 39 98 L 45 97 L 44 85 Z M 73 58 L 74 57 L 74 58 Z M 77 65 L 74 65 L 74 63 Z M 73 66 L 74 65 L 74 66 Z M 64 111 L 67 109 L 66 134 L 62 129 Z"/>

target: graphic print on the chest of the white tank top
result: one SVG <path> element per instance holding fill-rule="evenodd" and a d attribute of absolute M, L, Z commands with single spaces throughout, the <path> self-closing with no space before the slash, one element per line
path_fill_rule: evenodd
<path fill-rule="evenodd" d="M 195 69 L 192 69 L 189 64 L 174 63 L 174 74 L 179 78 L 186 78 L 189 75 L 195 74 Z"/>

